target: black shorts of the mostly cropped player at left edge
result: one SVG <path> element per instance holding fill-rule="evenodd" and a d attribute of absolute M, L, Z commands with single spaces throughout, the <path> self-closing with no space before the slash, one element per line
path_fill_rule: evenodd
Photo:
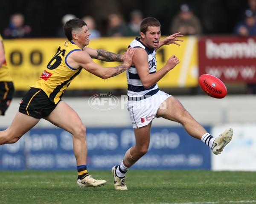
<path fill-rule="evenodd" d="M 0 110 L 2 116 L 9 107 L 14 94 L 13 82 L 0 82 Z"/>

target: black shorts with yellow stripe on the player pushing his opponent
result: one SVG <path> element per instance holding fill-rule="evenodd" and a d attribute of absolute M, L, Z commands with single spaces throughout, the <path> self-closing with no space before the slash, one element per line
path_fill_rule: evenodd
<path fill-rule="evenodd" d="M 24 113 L 34 118 L 44 118 L 48 116 L 57 104 L 50 101 L 47 94 L 42 89 L 30 88 L 20 102 L 20 113 Z"/>

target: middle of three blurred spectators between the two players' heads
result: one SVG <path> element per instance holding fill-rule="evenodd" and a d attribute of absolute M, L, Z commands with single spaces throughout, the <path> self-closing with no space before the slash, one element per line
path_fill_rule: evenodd
<path fill-rule="evenodd" d="M 126 29 L 126 23 L 123 20 L 122 14 L 111 13 L 108 15 L 108 37 L 121 37 Z"/>

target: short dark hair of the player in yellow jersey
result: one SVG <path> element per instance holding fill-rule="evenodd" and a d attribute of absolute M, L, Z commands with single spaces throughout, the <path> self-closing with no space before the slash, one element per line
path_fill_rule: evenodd
<path fill-rule="evenodd" d="M 73 39 L 72 32 L 75 29 L 82 28 L 84 26 L 87 26 L 87 24 L 79 18 L 73 18 L 73 19 L 68 20 L 65 23 L 64 27 L 63 27 L 64 28 L 64 33 L 67 37 L 67 40 L 72 40 Z"/>

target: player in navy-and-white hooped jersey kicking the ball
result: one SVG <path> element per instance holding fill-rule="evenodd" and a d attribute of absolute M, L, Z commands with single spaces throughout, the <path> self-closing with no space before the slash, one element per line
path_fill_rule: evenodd
<path fill-rule="evenodd" d="M 148 151 L 150 129 L 155 117 L 179 122 L 190 136 L 201 139 L 207 144 L 214 154 L 220 154 L 225 145 L 230 142 L 233 130 L 228 128 L 219 137 L 211 136 L 193 117 L 186 111 L 175 97 L 166 94 L 157 86 L 157 82 L 165 74 L 180 63 L 172 55 L 159 71 L 156 71 L 156 50 L 163 45 L 176 44 L 176 39 L 181 37 L 175 33 L 160 40 L 161 25 L 153 17 L 145 18 L 140 24 L 140 38 L 131 42 L 129 47 L 134 48 L 133 66 L 126 70 L 128 82 L 128 111 L 134 128 L 136 144 L 127 150 L 121 163 L 112 168 L 114 187 L 116 190 L 127 190 L 125 173 Z"/>

